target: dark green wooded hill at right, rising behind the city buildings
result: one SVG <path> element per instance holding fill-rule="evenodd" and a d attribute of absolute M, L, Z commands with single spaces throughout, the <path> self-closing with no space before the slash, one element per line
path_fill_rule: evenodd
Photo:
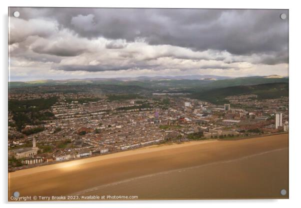
<path fill-rule="evenodd" d="M 227 103 L 227 100 L 224 99 L 226 96 L 241 94 L 257 94 L 258 99 L 271 99 L 288 96 L 288 83 L 278 82 L 214 88 L 194 92 L 190 95 L 190 97 L 194 99 L 207 100 L 216 104 L 222 104 Z"/>

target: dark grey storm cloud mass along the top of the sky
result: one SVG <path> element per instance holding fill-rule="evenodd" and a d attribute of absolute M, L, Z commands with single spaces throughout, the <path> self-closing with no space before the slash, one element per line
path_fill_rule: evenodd
<path fill-rule="evenodd" d="M 150 44 L 250 54 L 287 47 L 287 20 L 279 18 L 281 12 L 287 10 L 23 8 L 21 17 L 53 18 L 89 38 L 145 37 Z"/>

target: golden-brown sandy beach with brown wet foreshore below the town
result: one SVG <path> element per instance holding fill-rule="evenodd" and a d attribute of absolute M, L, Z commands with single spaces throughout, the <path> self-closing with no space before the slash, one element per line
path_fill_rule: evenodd
<path fill-rule="evenodd" d="M 288 198 L 288 134 L 145 147 L 9 173 L 20 196 Z M 105 198 L 106 199 L 106 198 Z"/>

